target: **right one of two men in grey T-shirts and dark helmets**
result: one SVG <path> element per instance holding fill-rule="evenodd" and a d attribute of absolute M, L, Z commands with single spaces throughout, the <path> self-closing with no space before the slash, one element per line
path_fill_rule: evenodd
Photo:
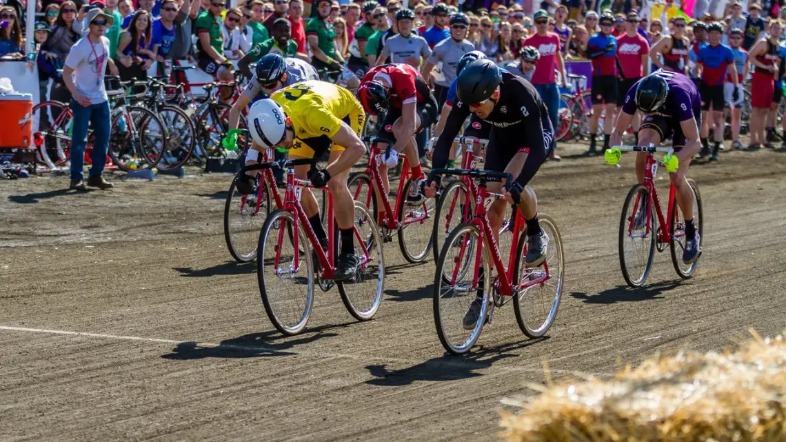
<path fill-rule="evenodd" d="M 463 13 L 450 17 L 450 39 L 444 39 L 434 46 L 432 54 L 423 66 L 423 79 L 431 83 L 432 71 L 437 64 L 442 64 L 439 77 L 435 77 L 434 96 L 439 109 L 445 105 L 447 90 L 456 78 L 458 61 L 465 53 L 475 50 L 471 42 L 465 39 L 469 28 L 469 18 Z"/>

